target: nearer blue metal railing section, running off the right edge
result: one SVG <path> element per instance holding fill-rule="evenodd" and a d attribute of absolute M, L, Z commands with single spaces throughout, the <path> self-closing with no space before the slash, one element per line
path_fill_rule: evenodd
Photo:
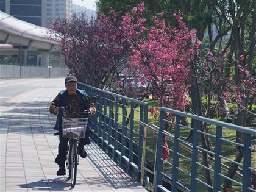
<path fill-rule="evenodd" d="M 176 115 L 175 121 L 165 119 L 166 113 Z M 180 118 L 186 117 L 194 122 L 193 126 L 184 126 L 180 124 Z M 174 140 L 170 151 L 172 159 L 163 160 L 163 135 L 166 124 L 174 124 Z M 209 133 L 201 130 L 200 125 L 210 127 Z M 180 138 L 180 133 L 185 132 L 186 129 L 193 130 L 193 141 L 188 141 Z M 243 133 L 244 140 L 241 143 L 236 143 L 236 138 L 232 132 L 239 131 Z M 211 133 L 210 133 L 211 132 Z M 207 140 L 210 148 L 201 147 L 201 136 Z M 167 137 L 168 138 L 168 137 Z M 222 121 L 215 121 L 213 119 L 203 118 L 201 116 L 191 115 L 188 113 L 179 112 L 169 108 L 160 108 L 160 127 L 158 135 L 157 158 L 155 165 L 157 172 L 155 177 L 157 183 L 155 184 L 155 191 L 168 191 L 162 186 L 162 178 L 166 173 L 163 168 L 171 168 L 171 191 L 177 191 L 182 187 L 187 189 L 185 191 L 256 191 L 251 186 L 251 180 L 256 173 L 256 131 L 246 127 L 236 126 Z M 169 140 L 169 138 L 168 138 Z M 170 141 L 170 140 L 169 140 Z M 252 143 L 253 142 L 253 143 Z M 191 146 L 192 153 L 183 150 L 182 144 Z M 252 146 L 254 145 L 254 147 Z M 233 160 L 238 154 L 237 147 L 243 149 L 243 158 L 241 162 Z M 229 150 L 229 152 L 227 152 Z M 223 152 L 229 154 L 230 157 L 224 157 Z M 202 160 L 202 156 L 206 154 L 207 165 Z M 236 171 L 234 178 L 227 177 L 230 164 L 240 167 L 240 172 Z M 253 163 L 253 164 L 252 164 Z M 166 166 L 164 164 L 167 164 Z M 204 177 L 205 172 L 209 172 L 212 183 L 207 183 Z M 222 189 L 225 180 L 232 182 L 232 189 Z M 190 181 L 190 182 L 188 182 Z M 184 184 L 185 183 L 185 184 Z"/>

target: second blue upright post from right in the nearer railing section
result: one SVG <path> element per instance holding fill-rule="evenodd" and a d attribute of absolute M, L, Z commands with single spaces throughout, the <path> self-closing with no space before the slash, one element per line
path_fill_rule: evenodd
<path fill-rule="evenodd" d="M 216 126 L 216 137 L 215 137 L 215 164 L 214 164 L 214 182 L 213 182 L 213 191 L 221 190 L 221 148 L 222 148 L 222 127 Z"/>

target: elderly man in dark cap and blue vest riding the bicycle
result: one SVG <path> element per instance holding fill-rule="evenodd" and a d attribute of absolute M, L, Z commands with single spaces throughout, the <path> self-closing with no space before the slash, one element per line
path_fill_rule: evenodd
<path fill-rule="evenodd" d="M 60 107 L 64 107 L 69 117 L 72 118 L 84 118 L 84 111 L 88 110 L 88 113 L 95 115 L 96 108 L 91 100 L 90 96 L 86 94 L 84 90 L 77 89 L 77 79 L 74 76 L 68 76 L 65 79 L 66 90 L 62 90 L 52 101 L 49 112 L 51 114 L 57 115 L 55 130 L 59 131 L 59 150 L 58 155 L 55 158 L 55 163 L 59 165 L 59 170 L 57 175 L 65 174 L 65 160 L 67 153 L 67 144 L 69 138 L 63 137 L 62 133 L 62 116 L 63 113 L 60 113 Z M 65 114 L 64 114 L 65 116 Z M 88 126 L 87 126 L 88 127 Z M 87 156 L 87 153 L 84 149 L 85 144 L 90 144 L 90 130 L 87 130 L 85 133 L 85 138 L 79 140 L 79 155 L 82 158 Z"/>

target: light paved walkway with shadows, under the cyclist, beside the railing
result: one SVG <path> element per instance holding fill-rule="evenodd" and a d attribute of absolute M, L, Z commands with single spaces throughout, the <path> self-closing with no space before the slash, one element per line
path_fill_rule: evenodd
<path fill-rule="evenodd" d="M 56 116 L 48 108 L 61 89 L 40 87 L 1 105 L 0 191 L 146 191 L 93 141 L 85 146 L 88 156 L 80 158 L 73 189 L 55 174 L 59 138 L 53 136 Z"/>

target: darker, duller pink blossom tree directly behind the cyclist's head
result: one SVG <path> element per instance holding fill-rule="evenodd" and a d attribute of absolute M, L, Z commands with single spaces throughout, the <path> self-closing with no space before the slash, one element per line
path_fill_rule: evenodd
<path fill-rule="evenodd" d="M 51 35 L 60 40 L 66 65 L 80 82 L 102 89 L 112 84 L 114 74 L 123 68 L 127 52 L 120 35 L 102 27 L 94 18 L 89 20 L 83 12 L 55 22 L 52 30 Z"/>

